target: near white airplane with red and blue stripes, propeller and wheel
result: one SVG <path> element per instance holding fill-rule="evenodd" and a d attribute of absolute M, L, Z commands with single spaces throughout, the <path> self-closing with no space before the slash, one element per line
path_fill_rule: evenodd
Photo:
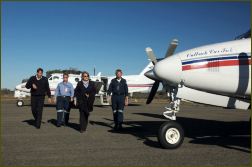
<path fill-rule="evenodd" d="M 170 99 L 163 112 L 169 121 L 158 131 L 163 148 L 175 149 L 183 143 L 184 130 L 176 122 L 181 100 L 233 109 L 251 107 L 251 34 L 245 35 L 176 54 L 178 40 L 174 39 L 159 60 L 151 48 L 145 49 L 154 65 L 145 75 L 155 81 L 146 104 L 151 103 L 160 83 Z"/>

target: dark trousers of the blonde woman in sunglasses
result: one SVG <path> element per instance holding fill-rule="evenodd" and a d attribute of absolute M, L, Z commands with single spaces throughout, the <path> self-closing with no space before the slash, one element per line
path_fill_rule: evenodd
<path fill-rule="evenodd" d="M 80 111 L 80 130 L 85 131 L 88 125 L 89 110 L 87 107 L 87 102 L 79 106 Z"/>

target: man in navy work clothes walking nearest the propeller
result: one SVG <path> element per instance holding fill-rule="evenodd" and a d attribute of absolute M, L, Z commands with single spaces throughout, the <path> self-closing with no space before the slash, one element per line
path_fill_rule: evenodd
<path fill-rule="evenodd" d="M 116 78 L 112 79 L 108 89 L 108 95 L 112 93 L 112 110 L 114 118 L 114 130 L 121 130 L 123 123 L 124 106 L 128 105 L 128 85 L 122 78 L 122 70 L 117 69 Z M 109 99 L 111 99 L 109 97 Z"/>

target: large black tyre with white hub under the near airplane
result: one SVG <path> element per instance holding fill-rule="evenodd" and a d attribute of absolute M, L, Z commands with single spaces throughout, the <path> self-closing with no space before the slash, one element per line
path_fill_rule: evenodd
<path fill-rule="evenodd" d="M 184 141 L 184 130 L 175 121 L 165 122 L 159 128 L 158 141 L 163 148 L 178 148 Z"/>

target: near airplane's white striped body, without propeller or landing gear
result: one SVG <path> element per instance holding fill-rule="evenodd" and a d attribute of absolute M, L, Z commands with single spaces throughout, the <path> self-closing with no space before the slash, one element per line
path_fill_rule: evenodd
<path fill-rule="evenodd" d="M 186 50 L 159 61 L 155 75 L 171 84 L 219 95 L 251 95 L 251 38 Z"/>

